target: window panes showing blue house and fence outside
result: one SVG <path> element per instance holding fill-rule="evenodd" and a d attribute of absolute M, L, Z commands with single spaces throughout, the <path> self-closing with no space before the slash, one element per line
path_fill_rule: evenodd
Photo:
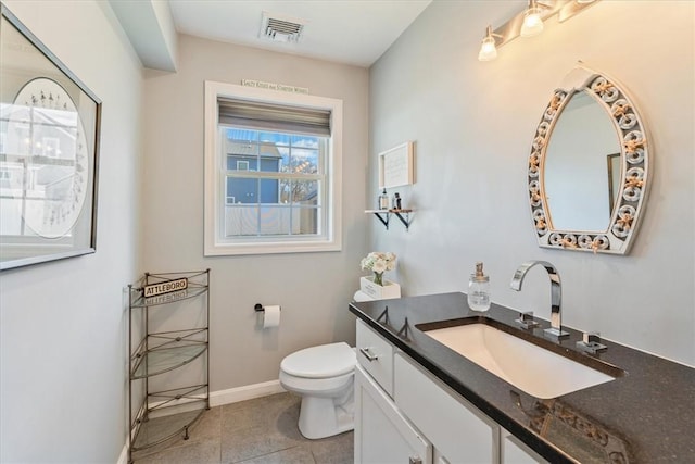
<path fill-rule="evenodd" d="M 226 162 L 224 236 L 316 236 L 328 138 L 219 125 Z"/>

